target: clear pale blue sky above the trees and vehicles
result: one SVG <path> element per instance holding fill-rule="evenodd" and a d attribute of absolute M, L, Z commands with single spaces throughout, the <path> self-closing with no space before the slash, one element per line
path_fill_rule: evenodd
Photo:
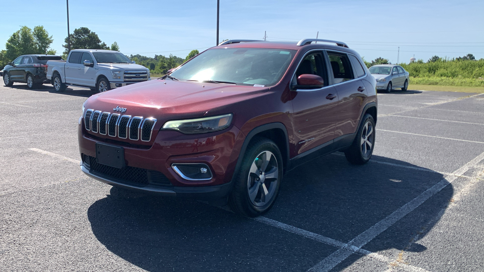
<path fill-rule="evenodd" d="M 29 4 L 31 2 L 31 4 Z M 346 42 L 365 60 L 400 62 L 484 58 L 484 1 L 390 0 L 220 0 L 220 41 L 319 38 Z M 26 25 L 43 25 L 58 54 L 67 36 L 65 0 L 4 1 L 0 10 L 0 49 Z M 117 42 L 126 55 L 173 54 L 184 58 L 216 44 L 216 0 L 70 0 L 71 33 L 87 27 L 107 45 Z"/>

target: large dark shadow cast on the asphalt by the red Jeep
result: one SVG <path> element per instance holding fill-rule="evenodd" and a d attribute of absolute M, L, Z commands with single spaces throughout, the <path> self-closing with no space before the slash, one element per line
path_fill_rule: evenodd
<path fill-rule="evenodd" d="M 264 216 L 347 243 L 443 180 L 402 161 L 372 160 L 384 163 L 353 166 L 333 153 L 298 166 Z M 418 240 L 439 221 L 453 192 L 449 184 L 363 249 L 390 257 L 425 251 Z M 116 187 L 91 205 L 88 218 L 99 242 L 147 271 L 306 271 L 338 249 L 202 202 Z M 361 257 L 353 254 L 336 269 Z"/>

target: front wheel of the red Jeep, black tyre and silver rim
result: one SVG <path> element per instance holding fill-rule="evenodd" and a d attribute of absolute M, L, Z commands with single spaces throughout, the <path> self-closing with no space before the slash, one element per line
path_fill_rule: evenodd
<path fill-rule="evenodd" d="M 283 163 L 277 145 L 266 138 L 249 144 L 228 197 L 233 212 L 257 217 L 269 211 L 279 193 Z"/>

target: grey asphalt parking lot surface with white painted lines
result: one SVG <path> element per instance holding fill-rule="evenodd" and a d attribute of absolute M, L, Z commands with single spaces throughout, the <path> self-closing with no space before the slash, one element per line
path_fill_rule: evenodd
<path fill-rule="evenodd" d="M 85 176 L 91 94 L 0 86 L 0 271 L 483 271 L 484 94 L 378 94 L 372 160 L 297 167 L 256 219 Z"/>

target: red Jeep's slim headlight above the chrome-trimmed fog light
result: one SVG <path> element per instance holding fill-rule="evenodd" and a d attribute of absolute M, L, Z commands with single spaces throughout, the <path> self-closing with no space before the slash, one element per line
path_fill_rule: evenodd
<path fill-rule="evenodd" d="M 232 122 L 232 114 L 188 120 L 167 121 L 162 129 L 177 130 L 183 134 L 209 133 L 226 129 Z"/>

